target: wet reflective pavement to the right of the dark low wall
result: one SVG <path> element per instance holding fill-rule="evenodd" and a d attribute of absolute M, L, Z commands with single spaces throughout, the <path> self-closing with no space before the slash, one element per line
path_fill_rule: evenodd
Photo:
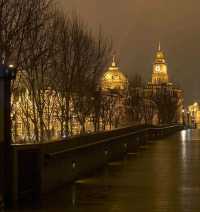
<path fill-rule="evenodd" d="M 36 210 L 199 212 L 200 131 L 181 131 L 143 146 L 137 154 L 54 192 Z"/>

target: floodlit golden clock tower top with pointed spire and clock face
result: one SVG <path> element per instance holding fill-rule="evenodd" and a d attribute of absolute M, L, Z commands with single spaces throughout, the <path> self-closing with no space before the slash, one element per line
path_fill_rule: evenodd
<path fill-rule="evenodd" d="M 167 84 L 168 80 L 167 63 L 159 43 L 156 59 L 153 65 L 152 84 Z"/>

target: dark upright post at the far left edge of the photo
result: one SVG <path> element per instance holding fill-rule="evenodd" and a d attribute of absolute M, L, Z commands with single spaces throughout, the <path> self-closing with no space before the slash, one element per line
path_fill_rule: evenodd
<path fill-rule="evenodd" d="M 11 186 L 11 80 L 15 79 L 13 66 L 0 65 L 0 209 L 9 205 Z"/>

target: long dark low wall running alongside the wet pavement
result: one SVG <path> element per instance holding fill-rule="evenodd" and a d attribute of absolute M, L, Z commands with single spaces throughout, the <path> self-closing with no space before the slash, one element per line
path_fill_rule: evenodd
<path fill-rule="evenodd" d="M 83 136 L 58 143 L 13 145 L 13 201 L 24 199 L 28 194 L 39 197 L 182 128 L 181 125 L 129 127 L 107 132 L 107 135 Z"/>

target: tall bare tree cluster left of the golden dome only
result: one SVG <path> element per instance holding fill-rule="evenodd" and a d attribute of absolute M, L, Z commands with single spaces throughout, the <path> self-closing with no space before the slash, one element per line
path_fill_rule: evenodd
<path fill-rule="evenodd" d="M 1 61 L 19 70 L 12 87 L 14 137 L 19 119 L 27 139 L 34 134 L 41 142 L 51 136 L 55 120 L 65 136 L 72 113 L 82 132 L 87 117 L 95 114 L 97 83 L 110 58 L 111 40 L 55 6 L 51 0 L 0 1 Z"/>

